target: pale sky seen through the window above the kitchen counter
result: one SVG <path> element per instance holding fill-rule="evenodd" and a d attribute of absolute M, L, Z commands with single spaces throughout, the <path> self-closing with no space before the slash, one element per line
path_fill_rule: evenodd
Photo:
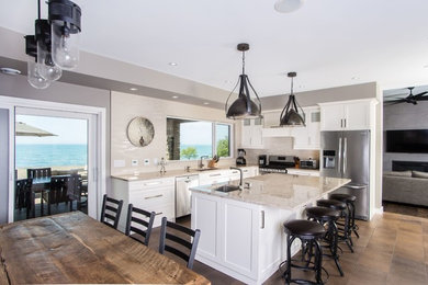
<path fill-rule="evenodd" d="M 217 125 L 217 140 L 227 137 L 228 125 Z M 212 123 L 189 122 L 180 124 L 180 142 L 182 145 L 211 145 Z"/>

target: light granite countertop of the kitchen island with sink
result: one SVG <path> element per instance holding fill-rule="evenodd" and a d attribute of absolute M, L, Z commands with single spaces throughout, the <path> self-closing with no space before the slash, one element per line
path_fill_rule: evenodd
<path fill-rule="evenodd" d="M 221 184 L 202 185 L 190 189 L 193 192 L 230 198 L 263 206 L 294 209 L 315 202 L 324 194 L 351 182 L 350 179 L 264 174 L 245 179 L 249 189 L 228 193 L 215 191 Z M 235 185 L 237 181 L 233 182 Z"/>

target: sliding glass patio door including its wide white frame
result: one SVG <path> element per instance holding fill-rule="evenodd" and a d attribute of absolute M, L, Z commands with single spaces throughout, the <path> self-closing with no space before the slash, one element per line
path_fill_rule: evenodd
<path fill-rule="evenodd" d="M 105 193 L 105 109 L 8 96 L 0 96 L 0 109 L 9 121 L 9 135 L 1 140 L 9 146 L 2 171 L 9 178 L 7 220 L 69 210 L 99 218 Z M 16 183 L 29 178 L 40 185 L 20 196 Z M 31 213 L 25 198 L 34 201 Z"/>

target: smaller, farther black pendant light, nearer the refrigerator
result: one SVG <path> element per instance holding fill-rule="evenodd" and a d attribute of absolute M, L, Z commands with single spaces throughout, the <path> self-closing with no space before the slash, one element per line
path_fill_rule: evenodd
<path fill-rule="evenodd" d="M 303 109 L 295 101 L 293 93 L 293 78 L 297 76 L 296 72 L 289 72 L 288 77 L 291 78 L 291 93 L 289 96 L 289 102 L 286 102 L 284 109 L 281 112 L 280 116 L 280 126 L 305 126 L 305 113 Z M 299 109 L 301 113 L 299 113 Z"/>

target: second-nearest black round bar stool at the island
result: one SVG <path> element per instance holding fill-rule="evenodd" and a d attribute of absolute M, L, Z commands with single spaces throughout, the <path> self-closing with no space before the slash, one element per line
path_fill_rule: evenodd
<path fill-rule="evenodd" d="M 326 247 L 329 248 L 330 254 L 324 255 L 334 259 L 337 270 L 340 273 L 340 276 L 343 276 L 343 271 L 341 270 L 339 263 L 339 255 L 337 254 L 338 229 L 336 226 L 336 221 L 340 218 L 340 212 L 326 207 L 308 207 L 306 208 L 306 216 L 308 220 L 317 221 L 323 227 L 325 227 L 325 225 L 327 224 L 328 228 L 324 240 L 328 243 Z"/>

